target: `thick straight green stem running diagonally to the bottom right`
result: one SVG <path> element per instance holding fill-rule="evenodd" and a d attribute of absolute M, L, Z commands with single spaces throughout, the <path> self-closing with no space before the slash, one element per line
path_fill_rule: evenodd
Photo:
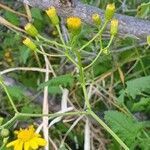
<path fill-rule="evenodd" d="M 129 150 L 128 146 L 101 120 L 93 111 L 89 111 L 90 115 L 110 134 L 114 139 L 125 149 Z"/>

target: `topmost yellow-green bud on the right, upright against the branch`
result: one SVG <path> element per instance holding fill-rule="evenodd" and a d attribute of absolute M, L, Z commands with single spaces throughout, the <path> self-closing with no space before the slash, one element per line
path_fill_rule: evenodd
<path fill-rule="evenodd" d="M 115 4 L 108 4 L 105 11 L 105 19 L 110 21 L 115 13 Z"/>

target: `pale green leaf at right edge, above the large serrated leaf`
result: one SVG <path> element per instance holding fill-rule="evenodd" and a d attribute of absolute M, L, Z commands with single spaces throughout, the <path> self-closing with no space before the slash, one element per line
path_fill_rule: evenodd
<path fill-rule="evenodd" d="M 135 98 L 136 95 L 141 94 L 141 92 L 149 92 L 150 90 L 150 76 L 137 78 L 130 80 L 127 83 L 127 93 Z"/>

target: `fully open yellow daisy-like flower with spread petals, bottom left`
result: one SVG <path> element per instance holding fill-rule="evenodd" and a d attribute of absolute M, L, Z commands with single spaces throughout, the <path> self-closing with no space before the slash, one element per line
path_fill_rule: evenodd
<path fill-rule="evenodd" d="M 6 145 L 7 148 L 14 147 L 14 150 L 36 150 L 40 146 L 45 146 L 46 141 L 41 138 L 40 134 L 35 133 L 33 126 L 27 129 L 15 131 L 17 139 Z"/>

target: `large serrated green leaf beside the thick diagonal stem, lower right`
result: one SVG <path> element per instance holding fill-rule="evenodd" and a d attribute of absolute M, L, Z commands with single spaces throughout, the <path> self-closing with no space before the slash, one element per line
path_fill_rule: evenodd
<path fill-rule="evenodd" d="M 105 112 L 105 121 L 128 146 L 134 143 L 143 127 L 141 123 L 118 111 Z"/>

